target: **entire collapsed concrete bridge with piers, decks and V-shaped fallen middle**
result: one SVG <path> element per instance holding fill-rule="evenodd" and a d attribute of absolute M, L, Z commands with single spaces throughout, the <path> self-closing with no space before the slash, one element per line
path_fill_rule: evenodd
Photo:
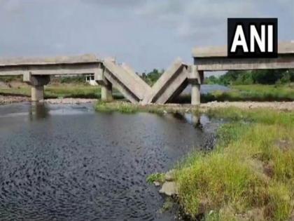
<path fill-rule="evenodd" d="M 165 104 L 192 86 L 191 104 L 200 104 L 200 85 L 206 71 L 294 68 L 294 43 L 280 43 L 278 58 L 228 58 L 226 47 L 194 48 L 194 65 L 177 59 L 151 87 L 126 64 L 95 55 L 0 60 L 0 76 L 23 76 L 31 85 L 31 100 L 44 99 L 44 86 L 52 75 L 93 74 L 102 87 L 102 100 L 111 101 L 113 88 L 127 100 L 142 105 Z"/>

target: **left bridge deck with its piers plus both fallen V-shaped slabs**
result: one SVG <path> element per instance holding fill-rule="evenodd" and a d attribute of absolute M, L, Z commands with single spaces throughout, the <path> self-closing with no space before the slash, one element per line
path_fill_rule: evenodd
<path fill-rule="evenodd" d="M 152 88 L 128 65 L 100 60 L 95 55 L 0 60 L 0 76 L 23 76 L 23 81 L 31 85 L 32 101 L 44 99 L 44 86 L 50 82 L 50 76 L 74 74 L 93 74 L 105 101 L 113 100 L 112 91 L 116 88 L 132 103 L 163 104 L 188 85 L 188 65 L 181 60 L 176 60 Z"/>

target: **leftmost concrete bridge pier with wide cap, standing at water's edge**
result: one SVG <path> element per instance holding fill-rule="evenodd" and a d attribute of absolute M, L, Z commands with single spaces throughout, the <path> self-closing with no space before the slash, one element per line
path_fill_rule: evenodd
<path fill-rule="evenodd" d="M 44 100 L 44 85 L 50 82 L 50 75 L 24 74 L 24 82 L 31 85 L 31 101 L 38 102 Z"/>

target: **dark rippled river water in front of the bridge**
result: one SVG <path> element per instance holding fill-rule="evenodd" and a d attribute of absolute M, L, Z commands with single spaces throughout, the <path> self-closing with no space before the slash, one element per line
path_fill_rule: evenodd
<path fill-rule="evenodd" d="M 146 177 L 209 145 L 217 126 L 91 104 L 0 106 L 0 220 L 174 220 Z"/>

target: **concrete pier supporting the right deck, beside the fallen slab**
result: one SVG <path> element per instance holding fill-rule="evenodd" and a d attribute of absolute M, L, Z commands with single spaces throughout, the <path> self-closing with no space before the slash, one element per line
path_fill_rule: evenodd
<path fill-rule="evenodd" d="M 198 71 L 196 65 L 189 67 L 188 81 L 191 84 L 191 105 L 200 105 L 200 88 L 203 83 L 204 73 Z"/>

